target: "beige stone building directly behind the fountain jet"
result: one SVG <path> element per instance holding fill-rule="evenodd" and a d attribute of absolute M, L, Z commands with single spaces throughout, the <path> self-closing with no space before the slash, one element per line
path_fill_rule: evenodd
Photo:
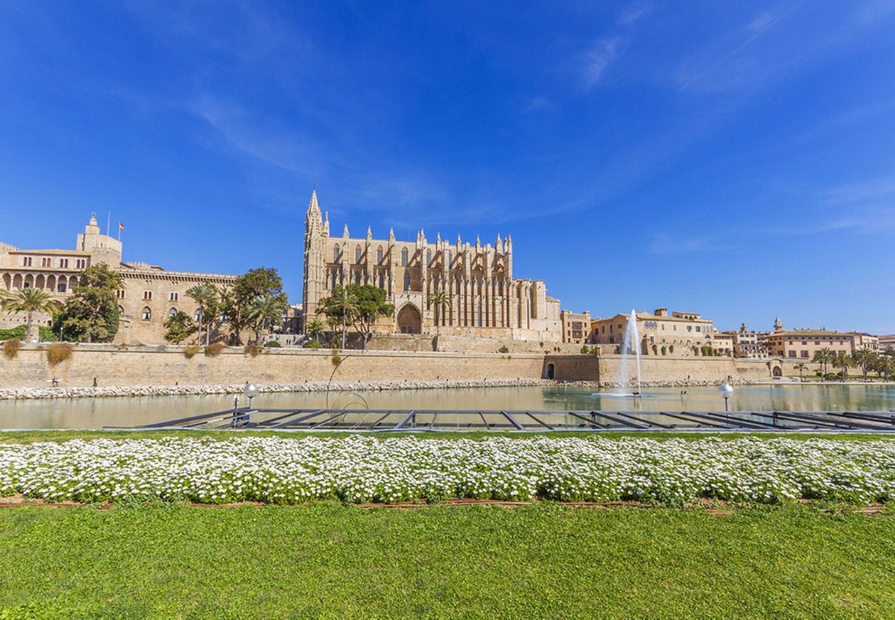
<path fill-rule="evenodd" d="M 642 355 L 691 357 L 702 354 L 703 346 L 712 347 L 712 321 L 701 314 L 672 312 L 656 308 L 652 314 L 637 313 L 637 334 Z M 616 314 L 591 322 L 591 342 L 609 345 L 614 351 L 625 340 L 630 314 Z M 615 347 L 613 347 L 615 345 Z"/>

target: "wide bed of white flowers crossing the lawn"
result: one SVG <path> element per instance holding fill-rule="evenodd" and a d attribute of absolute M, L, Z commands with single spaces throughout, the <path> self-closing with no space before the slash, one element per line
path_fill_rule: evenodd
<path fill-rule="evenodd" d="M 540 497 L 667 505 L 699 498 L 870 504 L 895 495 L 895 442 L 352 436 L 0 444 L 0 496 L 16 494 L 84 503 Z"/>

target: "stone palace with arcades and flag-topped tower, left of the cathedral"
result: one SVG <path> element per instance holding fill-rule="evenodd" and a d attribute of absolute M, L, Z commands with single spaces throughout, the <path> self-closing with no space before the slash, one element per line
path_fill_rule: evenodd
<path fill-rule="evenodd" d="M 178 311 L 199 318 L 199 306 L 187 297 L 186 291 L 201 282 L 224 287 L 236 276 L 214 273 L 166 271 L 148 263 L 123 263 L 122 242 L 103 235 L 96 214 L 84 232 L 78 235 L 73 250 L 20 250 L 0 243 L 0 288 L 42 288 L 60 303 L 72 294 L 81 271 L 90 265 L 106 263 L 118 271 L 124 288 L 117 292 L 121 314 L 115 342 L 126 344 L 161 344 L 165 342 L 163 323 Z M 37 317 L 38 324 L 49 325 L 51 318 Z M 24 323 L 24 314 L 0 313 L 0 327 Z"/>

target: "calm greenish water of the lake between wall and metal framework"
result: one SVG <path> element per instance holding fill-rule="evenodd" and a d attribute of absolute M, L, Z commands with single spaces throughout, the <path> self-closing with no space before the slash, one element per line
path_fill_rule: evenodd
<path fill-rule="evenodd" d="M 637 400 L 593 394 L 586 387 L 468 388 L 332 392 L 330 408 L 346 409 L 605 409 L 723 410 L 716 387 L 651 388 Z M 324 408 L 323 393 L 261 394 L 260 408 Z M 228 409 L 233 396 L 168 396 L 71 400 L 0 400 L 0 428 L 136 426 Z M 892 385 L 751 385 L 736 388 L 732 410 L 879 411 L 895 409 Z"/>

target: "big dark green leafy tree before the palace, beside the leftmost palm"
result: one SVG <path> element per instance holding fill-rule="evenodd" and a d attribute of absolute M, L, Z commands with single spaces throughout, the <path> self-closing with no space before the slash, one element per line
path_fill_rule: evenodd
<path fill-rule="evenodd" d="M 121 274 L 105 263 L 90 265 L 78 277 L 56 317 L 54 332 L 65 340 L 107 342 L 118 332 L 118 300 L 115 292 L 124 288 Z"/>

